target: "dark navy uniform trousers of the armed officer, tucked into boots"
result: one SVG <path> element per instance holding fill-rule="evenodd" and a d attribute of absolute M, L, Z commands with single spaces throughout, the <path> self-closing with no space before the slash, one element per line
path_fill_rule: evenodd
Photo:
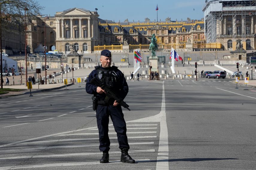
<path fill-rule="evenodd" d="M 121 105 L 103 106 L 98 105 L 96 110 L 97 125 L 99 129 L 99 149 L 101 152 L 108 152 L 110 149 L 110 140 L 108 137 L 109 117 L 113 122 L 117 134 L 119 149 L 130 148 L 126 135 L 126 123 Z"/>

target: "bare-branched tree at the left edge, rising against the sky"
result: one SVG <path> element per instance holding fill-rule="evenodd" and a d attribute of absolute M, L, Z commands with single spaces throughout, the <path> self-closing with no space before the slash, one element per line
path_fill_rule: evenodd
<path fill-rule="evenodd" d="M 34 0 L 0 0 L 1 88 L 3 88 L 2 30 L 10 28 L 10 26 L 16 26 L 25 30 L 25 17 L 35 18 L 40 14 L 40 11 L 43 10 L 43 8 L 44 7 L 40 6 L 40 4 Z"/>

